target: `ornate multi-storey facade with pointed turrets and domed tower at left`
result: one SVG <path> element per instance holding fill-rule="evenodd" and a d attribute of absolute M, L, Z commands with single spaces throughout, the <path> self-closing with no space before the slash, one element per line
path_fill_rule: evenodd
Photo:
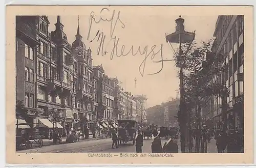
<path fill-rule="evenodd" d="M 92 51 L 82 42 L 79 20 L 76 39 L 72 45 L 68 42 L 60 16 L 57 16 L 55 31 L 51 33 L 47 16 L 18 16 L 16 22 L 16 69 L 24 67 L 25 71 L 23 74 L 24 71 L 16 71 L 16 100 L 22 101 L 22 106 L 34 109 L 30 111 L 35 111 L 36 115 L 33 116 L 36 120 L 30 123 L 40 123 L 48 128 L 64 127 L 66 131 L 84 130 L 88 124 L 92 125 Z M 27 35 L 23 38 L 24 33 L 27 33 L 22 28 L 23 24 L 28 25 L 27 29 L 29 27 L 31 30 L 29 40 Z M 20 47 L 22 45 L 24 47 Z M 30 83 L 28 88 L 34 87 L 31 93 L 22 91 L 24 89 L 20 87 L 25 86 L 26 81 Z"/>

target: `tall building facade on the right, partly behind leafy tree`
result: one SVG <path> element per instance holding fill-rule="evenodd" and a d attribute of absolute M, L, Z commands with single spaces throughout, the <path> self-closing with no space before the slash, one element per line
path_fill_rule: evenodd
<path fill-rule="evenodd" d="M 216 55 L 225 56 L 220 66 L 226 68 L 219 76 L 211 78 L 212 82 L 222 83 L 227 88 L 228 95 L 211 95 L 205 99 L 202 107 L 205 125 L 222 128 L 224 124 L 228 130 L 243 131 L 244 16 L 219 16 L 214 36 L 216 40 L 212 51 Z"/>

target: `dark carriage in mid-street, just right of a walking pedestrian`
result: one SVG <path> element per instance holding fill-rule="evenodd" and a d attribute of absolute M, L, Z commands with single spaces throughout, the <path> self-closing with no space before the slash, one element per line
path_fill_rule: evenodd
<path fill-rule="evenodd" d="M 135 144 L 135 136 L 137 129 L 137 122 L 134 120 L 118 120 L 118 143 L 127 143 L 132 141 Z"/>

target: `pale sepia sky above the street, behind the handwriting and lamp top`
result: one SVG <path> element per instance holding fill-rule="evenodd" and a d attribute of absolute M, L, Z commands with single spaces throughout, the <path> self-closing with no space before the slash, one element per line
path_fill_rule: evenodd
<path fill-rule="evenodd" d="M 85 11 L 83 13 L 88 14 L 79 16 L 80 34 L 87 49 L 90 47 L 92 50 L 93 66 L 102 64 L 105 74 L 109 77 L 117 77 L 120 86 L 125 91 L 131 92 L 133 95 L 146 95 L 147 107 L 175 98 L 179 90 L 179 78 L 177 77 L 178 69 L 174 66 L 174 62 L 164 62 L 161 72 L 154 75 L 148 74 L 158 72 L 161 69 L 161 63 L 154 63 L 154 61 L 161 60 L 160 52 L 157 53 L 161 51 L 161 48 L 163 59 L 170 60 L 173 58 L 173 51 L 165 41 L 165 33 L 175 32 L 175 19 L 179 17 L 179 14 L 177 16 L 173 13 L 168 14 L 168 10 L 151 10 L 142 13 L 139 8 L 130 12 L 119 10 L 118 7 L 113 6 L 100 12 L 101 8 L 94 9 L 94 11 Z M 91 12 L 94 12 L 95 21 L 100 20 L 100 18 L 102 20 L 95 23 L 91 19 L 90 24 Z M 112 24 L 103 21 L 104 19 L 111 20 L 112 16 L 114 16 Z M 185 19 L 185 30 L 188 32 L 196 30 L 195 40 L 200 42 L 212 37 L 218 16 L 182 16 L 182 18 Z M 57 16 L 48 16 L 48 19 L 50 21 L 49 32 L 54 31 Z M 62 15 L 61 22 L 64 25 L 63 30 L 67 34 L 68 42 L 72 44 L 77 32 L 78 16 Z M 101 52 L 97 53 L 101 38 L 99 38 L 99 41 L 98 36 L 94 39 L 98 31 L 99 34 L 102 32 L 105 35 L 103 56 Z M 115 37 L 116 42 L 119 39 L 116 47 L 114 47 Z M 146 46 L 147 53 L 151 51 L 153 51 L 151 53 L 155 53 L 154 57 L 150 54 L 146 59 L 145 68 L 143 68 L 145 54 L 132 54 L 132 52 L 129 52 L 132 46 L 133 53 L 136 53 L 139 47 L 141 52 L 146 51 L 144 50 Z M 176 46 L 174 44 L 174 47 Z M 125 56 L 117 57 L 114 52 L 111 57 L 113 48 L 117 50 L 117 55 L 120 55 L 123 51 Z M 137 80 L 136 87 L 135 78 Z"/>

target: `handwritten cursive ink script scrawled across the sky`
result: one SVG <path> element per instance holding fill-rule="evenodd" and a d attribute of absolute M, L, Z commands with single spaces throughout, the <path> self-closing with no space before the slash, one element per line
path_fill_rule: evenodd
<path fill-rule="evenodd" d="M 154 75 L 158 74 L 163 69 L 163 44 L 160 44 L 160 46 L 157 47 L 157 45 L 148 46 L 145 45 L 144 48 L 141 46 L 134 46 L 131 45 L 129 47 L 126 47 L 125 45 L 119 44 L 120 38 L 115 36 L 115 30 L 118 28 L 125 29 L 125 24 L 121 19 L 121 11 L 116 12 L 115 10 L 111 11 L 109 8 L 102 8 L 99 12 L 99 15 L 96 15 L 96 13 L 93 11 L 90 13 L 90 19 L 89 19 L 89 31 L 87 40 L 90 40 L 90 42 L 96 41 L 98 43 L 97 47 L 97 55 L 107 55 L 110 52 L 110 60 L 113 60 L 114 57 L 125 57 L 126 55 L 143 55 L 144 59 L 141 62 L 139 66 L 139 72 L 141 76 L 144 76 L 145 67 L 146 67 L 146 61 L 148 58 L 151 60 L 154 60 L 157 54 L 160 54 L 160 61 L 154 62 L 154 63 L 160 63 L 161 68 L 159 71 L 155 73 L 151 73 L 148 75 Z M 110 23 L 110 34 L 109 34 L 109 40 L 107 39 L 106 34 L 104 31 L 98 30 L 96 35 L 91 38 L 91 31 L 94 24 L 99 24 L 103 22 L 109 22 Z"/>

